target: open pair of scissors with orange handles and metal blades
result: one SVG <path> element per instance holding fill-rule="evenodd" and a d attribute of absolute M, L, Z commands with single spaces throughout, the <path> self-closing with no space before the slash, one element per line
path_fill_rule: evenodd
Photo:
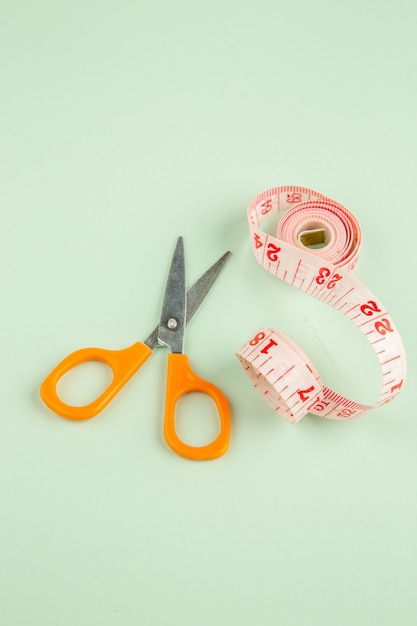
<path fill-rule="evenodd" d="M 84 420 L 100 413 L 133 374 L 150 357 L 157 346 L 170 348 L 166 384 L 164 436 L 167 444 L 177 454 L 193 460 L 215 459 L 223 455 L 229 446 L 230 408 L 223 392 L 212 383 L 197 376 L 183 352 L 184 331 L 208 291 L 218 277 L 227 256 L 226 252 L 187 291 L 183 238 L 179 237 L 172 258 L 165 288 L 159 324 L 145 341 L 136 342 L 123 350 L 83 348 L 63 359 L 46 377 L 40 393 L 45 404 L 58 415 L 73 420 Z M 58 381 L 70 370 L 82 363 L 101 361 L 110 366 L 113 380 L 107 389 L 93 402 L 84 406 L 72 406 L 63 402 L 57 393 Z M 204 446 L 184 443 L 175 429 L 175 405 L 191 392 L 210 396 L 217 407 L 220 418 L 218 437 Z"/>

